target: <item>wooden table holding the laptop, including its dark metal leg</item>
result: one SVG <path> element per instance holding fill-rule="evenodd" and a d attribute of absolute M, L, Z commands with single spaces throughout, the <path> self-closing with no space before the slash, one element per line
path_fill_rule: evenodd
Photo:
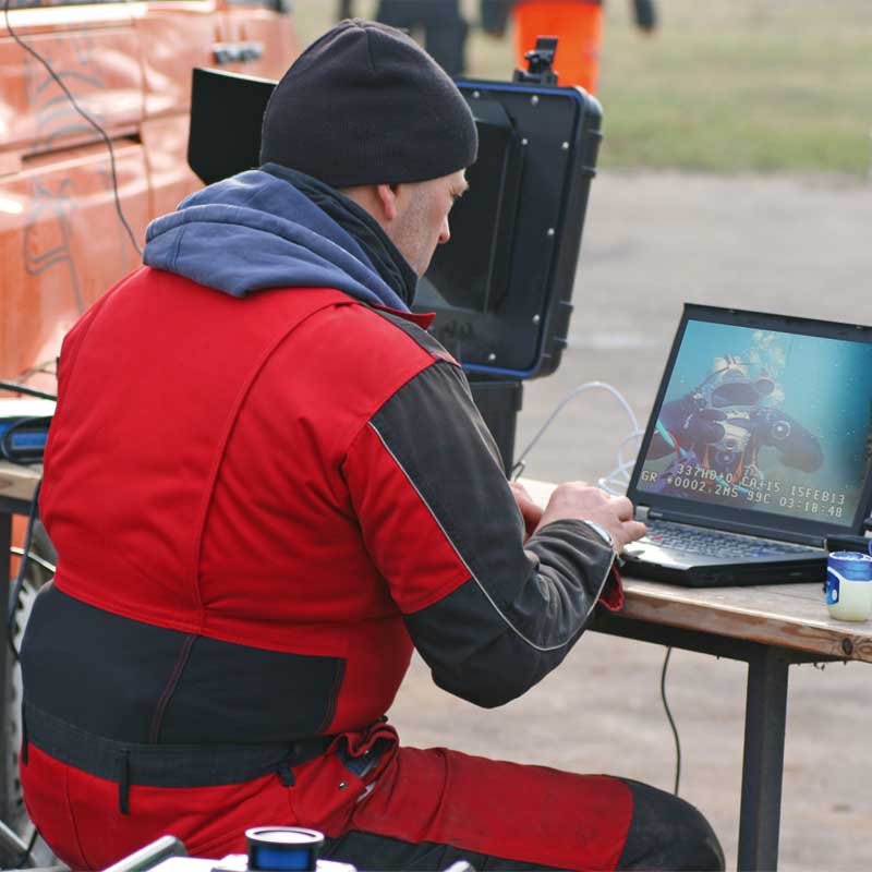
<path fill-rule="evenodd" d="M 523 480 L 545 505 L 553 484 Z M 821 584 L 680 588 L 623 577 L 620 613 L 603 611 L 592 629 L 748 664 L 738 868 L 774 870 L 787 714 L 795 663 L 872 663 L 872 622 L 833 620 Z"/>

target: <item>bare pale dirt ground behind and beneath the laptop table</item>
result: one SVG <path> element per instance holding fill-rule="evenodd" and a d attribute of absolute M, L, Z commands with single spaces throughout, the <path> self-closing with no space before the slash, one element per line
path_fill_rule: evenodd
<path fill-rule="evenodd" d="M 870 228 L 872 181 L 602 175 L 588 213 L 570 347 L 554 376 L 526 386 L 518 447 L 572 387 L 593 379 L 618 388 L 644 422 L 683 301 L 872 323 Z M 611 397 L 584 395 L 531 455 L 528 474 L 595 481 L 615 465 L 629 429 Z M 523 699 L 489 712 L 435 688 L 416 659 L 390 715 L 407 744 L 671 789 L 663 658 L 658 646 L 590 633 Z M 681 737 L 680 795 L 711 820 L 728 869 L 736 867 L 746 668 L 676 652 L 667 679 Z M 783 872 L 872 868 L 870 718 L 869 667 L 791 667 Z"/>

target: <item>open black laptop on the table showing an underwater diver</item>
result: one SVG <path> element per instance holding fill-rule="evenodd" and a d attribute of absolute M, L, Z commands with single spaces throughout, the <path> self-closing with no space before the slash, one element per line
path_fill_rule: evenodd
<path fill-rule="evenodd" d="M 872 491 L 872 328 L 686 304 L 627 495 L 633 574 L 821 582 Z"/>

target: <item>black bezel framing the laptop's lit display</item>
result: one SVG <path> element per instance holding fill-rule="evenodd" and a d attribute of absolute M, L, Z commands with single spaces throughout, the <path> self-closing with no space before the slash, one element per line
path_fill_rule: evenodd
<path fill-rule="evenodd" d="M 666 391 L 669 387 L 669 380 L 675 370 L 678 352 L 681 348 L 681 341 L 685 337 L 688 323 L 691 320 L 872 344 L 872 327 L 863 325 L 840 324 L 837 322 L 816 320 L 813 318 L 772 315 L 762 312 L 747 312 L 737 308 L 722 308 L 719 306 L 685 303 L 681 320 L 678 325 L 678 330 L 666 361 L 661 386 L 657 390 L 651 415 L 649 416 L 645 435 L 642 439 L 635 465 L 630 476 L 630 484 L 627 488 L 627 496 L 633 505 L 645 506 L 650 511 L 661 512 L 666 520 L 692 520 L 694 524 L 700 526 L 712 526 L 718 530 L 728 530 L 737 533 L 755 533 L 758 535 L 771 534 L 779 538 L 796 542 L 822 543 L 827 535 L 845 535 L 846 533 L 861 534 L 863 520 L 869 514 L 870 498 L 872 497 L 872 474 L 870 474 L 869 470 L 867 471 L 867 480 L 860 492 L 860 500 L 850 525 L 808 521 L 787 514 L 764 511 L 762 509 L 735 509 L 728 506 L 718 506 L 713 502 L 664 496 L 639 488 L 639 479 L 642 474 L 645 458 L 647 457 L 649 446 L 654 436 L 659 409 L 663 405 Z M 753 523 L 748 523 L 749 517 L 753 518 Z"/>

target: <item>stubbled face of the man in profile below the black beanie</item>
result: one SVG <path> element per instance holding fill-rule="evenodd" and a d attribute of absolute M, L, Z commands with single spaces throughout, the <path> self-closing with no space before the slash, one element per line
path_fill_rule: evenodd
<path fill-rule="evenodd" d="M 463 170 L 398 186 L 397 217 L 388 234 L 419 276 L 427 271 L 436 246 L 451 238 L 448 213 L 468 187 Z"/>

